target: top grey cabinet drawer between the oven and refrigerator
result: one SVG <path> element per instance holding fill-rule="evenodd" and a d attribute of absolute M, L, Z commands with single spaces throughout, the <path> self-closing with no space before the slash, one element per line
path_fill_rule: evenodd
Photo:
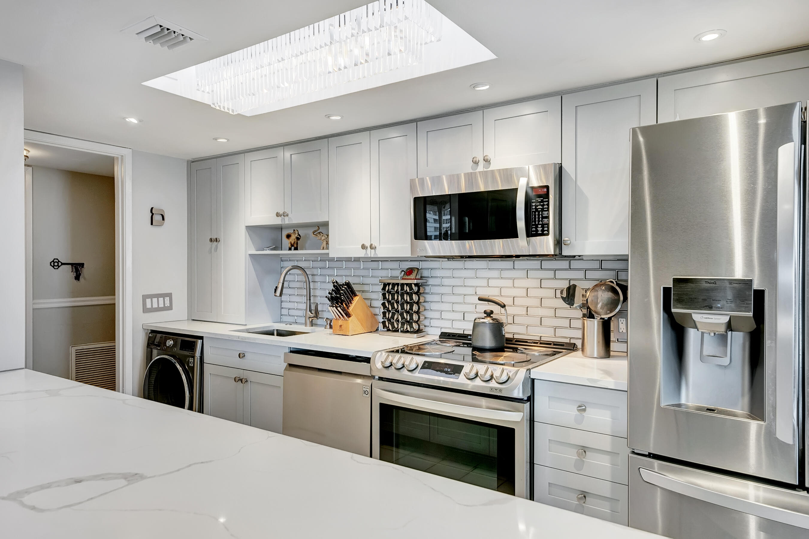
<path fill-rule="evenodd" d="M 534 420 L 626 438 L 626 392 L 534 381 Z"/>

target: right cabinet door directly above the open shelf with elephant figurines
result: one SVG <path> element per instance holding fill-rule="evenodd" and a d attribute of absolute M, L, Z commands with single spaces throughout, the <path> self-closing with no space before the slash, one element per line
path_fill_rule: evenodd
<path fill-rule="evenodd" d="M 284 146 L 284 223 L 328 221 L 328 139 Z"/>

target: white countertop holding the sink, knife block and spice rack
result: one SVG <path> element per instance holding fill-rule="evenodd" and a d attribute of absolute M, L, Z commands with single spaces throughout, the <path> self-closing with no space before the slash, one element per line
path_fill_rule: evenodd
<path fill-rule="evenodd" d="M 320 350 L 321 352 L 334 352 L 337 354 L 352 354 L 370 358 L 376 350 L 385 350 L 394 346 L 404 346 L 414 342 L 430 341 L 434 335 L 424 337 L 397 337 L 383 333 L 360 333 L 358 335 L 335 335 L 331 329 L 317 329 L 312 333 L 294 335 L 293 337 L 273 337 L 257 333 L 245 333 L 244 329 L 262 327 L 269 324 L 255 326 L 220 324 L 218 322 L 202 322 L 200 320 L 177 320 L 174 322 L 155 322 L 144 324 L 143 329 L 184 333 L 186 335 L 199 335 L 201 337 L 218 337 L 244 342 L 259 342 L 290 348 L 306 348 L 307 350 Z M 273 324 L 274 325 L 274 324 Z M 280 325 L 279 327 L 285 327 Z M 288 329 L 297 329 L 290 325 Z M 243 331 L 239 331 L 239 329 Z"/>

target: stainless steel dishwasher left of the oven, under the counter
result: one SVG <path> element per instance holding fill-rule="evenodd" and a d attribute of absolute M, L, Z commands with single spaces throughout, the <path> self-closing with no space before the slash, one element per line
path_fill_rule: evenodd
<path fill-rule="evenodd" d="M 284 354 L 283 434 L 371 456 L 371 358 Z"/>

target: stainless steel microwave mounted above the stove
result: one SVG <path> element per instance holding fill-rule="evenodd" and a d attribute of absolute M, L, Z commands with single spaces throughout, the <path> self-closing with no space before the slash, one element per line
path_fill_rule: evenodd
<path fill-rule="evenodd" d="M 410 254 L 560 254 L 560 171 L 548 163 L 410 180 Z"/>

